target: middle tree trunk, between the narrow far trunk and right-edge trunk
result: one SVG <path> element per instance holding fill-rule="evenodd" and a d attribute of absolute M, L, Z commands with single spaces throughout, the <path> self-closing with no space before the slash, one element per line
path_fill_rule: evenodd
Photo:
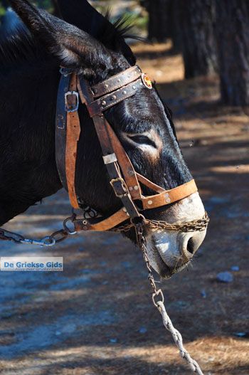
<path fill-rule="evenodd" d="M 216 38 L 213 27 L 215 0 L 175 1 L 179 5 L 179 30 L 185 78 L 210 75 L 217 68 Z"/>

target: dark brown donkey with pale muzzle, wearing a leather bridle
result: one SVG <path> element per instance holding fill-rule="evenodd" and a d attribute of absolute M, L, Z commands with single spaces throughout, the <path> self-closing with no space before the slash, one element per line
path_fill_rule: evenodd
<path fill-rule="evenodd" d="M 70 23 L 36 9 L 27 0 L 10 0 L 26 26 L 21 25 L 14 36 L 0 44 L 0 225 L 62 188 L 55 163 L 60 66 L 80 70 L 83 78 L 95 85 L 136 63 L 120 28 L 87 1 L 58 2 Z M 75 186 L 84 204 L 108 216 L 122 206 L 110 186 L 100 144 L 84 105 L 80 105 L 79 115 L 82 132 Z M 164 189 L 192 179 L 171 112 L 156 88 L 141 86 L 139 93 L 107 110 L 105 117 L 139 174 Z M 200 219 L 204 213 L 196 192 L 175 204 L 146 211 L 144 216 L 183 223 Z M 135 241 L 132 233 L 126 235 Z M 191 261 L 205 236 L 206 231 L 147 230 L 152 267 L 161 277 L 171 277 Z"/>

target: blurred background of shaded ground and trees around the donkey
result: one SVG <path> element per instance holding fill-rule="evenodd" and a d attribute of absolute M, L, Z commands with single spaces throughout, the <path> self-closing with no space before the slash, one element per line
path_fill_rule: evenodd
<path fill-rule="evenodd" d="M 70 2 L 70 0 L 68 0 Z M 34 1 L 60 15 L 56 1 Z M 211 217 L 188 270 L 158 280 L 186 347 L 208 375 L 249 374 L 249 1 L 90 1 L 134 25 L 139 65 L 173 111 Z M 11 33 L 0 1 L 1 33 Z M 127 22 L 129 22 L 127 21 Z M 70 213 L 64 191 L 6 225 L 43 237 Z M 51 255 L 1 244 L 1 255 Z M 0 273 L 0 370 L 12 375 L 185 375 L 151 303 L 142 255 L 119 235 L 84 233 L 53 250 L 64 272 Z M 4 275 L 3 275 L 4 274 Z M 39 275 L 38 275 L 39 274 Z"/>

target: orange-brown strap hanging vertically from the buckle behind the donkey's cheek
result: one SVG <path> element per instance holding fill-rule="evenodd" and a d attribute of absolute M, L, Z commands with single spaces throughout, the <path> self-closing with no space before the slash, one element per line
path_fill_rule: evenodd
<path fill-rule="evenodd" d="M 65 94 L 66 102 L 65 107 L 67 110 L 67 136 L 66 136 L 66 148 L 65 148 L 65 172 L 68 182 L 68 194 L 70 198 L 70 204 L 73 208 L 79 208 L 78 199 L 75 191 L 75 171 L 76 171 L 76 160 L 77 160 L 77 147 L 78 140 L 80 138 L 80 119 L 78 111 L 70 112 L 73 107 L 77 106 L 77 97 L 73 92 L 77 90 L 77 79 L 78 76 L 73 74 L 70 81 L 71 93 Z"/>

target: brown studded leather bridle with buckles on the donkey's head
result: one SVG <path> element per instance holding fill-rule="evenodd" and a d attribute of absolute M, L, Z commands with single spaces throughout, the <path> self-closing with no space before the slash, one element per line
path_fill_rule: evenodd
<path fill-rule="evenodd" d="M 73 208 L 80 208 L 80 200 L 75 189 L 75 171 L 80 138 L 78 107 L 81 100 L 88 108 L 89 115 L 93 120 L 102 147 L 103 162 L 110 176 L 110 185 L 123 205 L 123 208 L 108 218 L 90 218 L 88 220 L 74 218 L 73 223 L 76 231 L 117 230 L 120 228 L 120 224 L 127 219 L 129 219 L 129 223 L 122 226 L 120 230 L 129 230 L 136 218 L 144 218 L 142 211 L 172 204 L 198 191 L 194 180 L 174 189 L 165 190 L 137 173 L 120 140 L 105 119 L 105 110 L 132 97 L 139 88 L 152 89 L 149 78 L 142 73 L 137 65 L 92 87 L 80 74 L 70 73 L 64 68 L 61 73 L 56 113 L 55 149 L 60 181 L 68 190 L 70 203 Z M 155 191 L 155 194 L 144 196 L 141 185 Z M 138 201 L 140 208 L 137 205 Z M 147 219 L 145 221 L 151 226 L 159 226 L 159 223 L 163 223 Z M 195 228 L 199 227 L 195 230 L 205 229 L 207 223 L 207 216 L 200 221 L 195 221 Z M 186 226 L 191 225 L 193 223 L 186 223 Z M 182 225 L 176 224 L 171 227 L 169 229 L 177 230 Z"/>

